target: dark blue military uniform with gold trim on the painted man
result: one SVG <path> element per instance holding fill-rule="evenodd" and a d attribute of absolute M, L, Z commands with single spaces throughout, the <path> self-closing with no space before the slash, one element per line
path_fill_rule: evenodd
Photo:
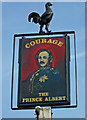
<path fill-rule="evenodd" d="M 55 68 L 44 67 L 36 70 L 22 83 L 23 97 L 38 97 L 48 92 L 48 96 L 65 95 L 65 81 Z"/>

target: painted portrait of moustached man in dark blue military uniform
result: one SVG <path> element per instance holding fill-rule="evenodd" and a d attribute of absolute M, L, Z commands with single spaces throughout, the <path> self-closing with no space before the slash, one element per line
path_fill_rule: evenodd
<path fill-rule="evenodd" d="M 52 66 L 52 52 L 40 49 L 35 54 L 35 59 L 39 69 L 29 74 L 22 82 L 22 97 L 38 97 L 40 93 L 48 93 L 50 97 L 66 95 L 65 80 Z"/>

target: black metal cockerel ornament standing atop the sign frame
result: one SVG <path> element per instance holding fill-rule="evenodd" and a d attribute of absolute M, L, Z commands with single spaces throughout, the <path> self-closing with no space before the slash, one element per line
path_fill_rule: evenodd
<path fill-rule="evenodd" d="M 50 6 L 52 6 L 52 4 L 50 2 L 46 3 L 46 5 L 45 5 L 46 11 L 41 16 L 36 12 L 30 13 L 28 16 L 29 22 L 31 22 L 31 19 L 33 19 L 32 21 L 35 24 L 39 23 L 39 25 L 40 25 L 39 33 L 44 33 L 44 31 L 42 30 L 44 25 L 45 25 L 45 29 L 46 29 L 47 33 L 51 32 L 48 29 L 49 23 L 53 17 L 53 12 L 52 12 L 52 9 L 50 8 Z"/>

